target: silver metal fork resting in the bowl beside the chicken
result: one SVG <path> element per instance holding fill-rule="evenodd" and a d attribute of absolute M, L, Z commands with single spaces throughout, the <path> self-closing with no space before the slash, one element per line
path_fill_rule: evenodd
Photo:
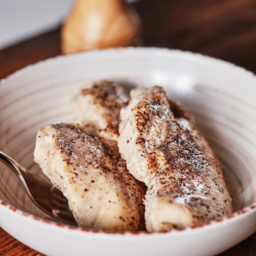
<path fill-rule="evenodd" d="M 47 219 L 77 225 L 68 207 L 67 199 L 50 182 L 30 173 L 2 151 L 0 151 L 0 162 L 19 178 L 31 202 L 49 216 Z"/>

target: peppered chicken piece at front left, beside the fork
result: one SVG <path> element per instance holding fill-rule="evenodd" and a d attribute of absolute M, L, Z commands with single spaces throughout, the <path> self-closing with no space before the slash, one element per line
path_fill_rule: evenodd
<path fill-rule="evenodd" d="M 144 229 L 144 189 L 126 168 L 117 141 L 75 124 L 52 124 L 36 137 L 34 159 L 60 189 L 80 227 Z"/>

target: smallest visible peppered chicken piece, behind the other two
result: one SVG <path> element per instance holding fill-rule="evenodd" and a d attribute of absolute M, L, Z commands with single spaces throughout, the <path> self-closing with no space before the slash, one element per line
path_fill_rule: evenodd
<path fill-rule="evenodd" d="M 119 114 L 129 101 L 126 89 L 111 81 L 84 86 L 74 97 L 74 123 L 84 126 L 92 135 L 117 140 Z"/>

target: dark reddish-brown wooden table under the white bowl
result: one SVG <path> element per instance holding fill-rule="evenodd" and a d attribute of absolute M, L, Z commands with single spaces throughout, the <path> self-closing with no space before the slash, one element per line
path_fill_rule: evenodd
<path fill-rule="evenodd" d="M 133 5 L 141 17 L 144 46 L 200 52 L 256 73 L 255 0 L 141 0 Z M 1 50 L 0 79 L 61 54 L 59 32 L 55 29 Z M 42 254 L 0 229 L 0 255 Z M 256 233 L 219 254 L 227 255 L 256 255 Z"/>

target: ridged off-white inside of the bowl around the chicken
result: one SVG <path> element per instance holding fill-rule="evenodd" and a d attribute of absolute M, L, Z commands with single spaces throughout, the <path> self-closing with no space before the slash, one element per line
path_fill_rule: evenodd
<path fill-rule="evenodd" d="M 200 54 L 156 48 L 109 49 L 31 65 L 0 83 L 0 150 L 31 172 L 37 130 L 70 122 L 77 88 L 100 79 L 130 88 L 163 86 L 180 101 L 224 166 L 234 211 L 256 203 L 256 76 Z M 37 215 L 16 177 L 0 164 L 0 200 Z"/>

